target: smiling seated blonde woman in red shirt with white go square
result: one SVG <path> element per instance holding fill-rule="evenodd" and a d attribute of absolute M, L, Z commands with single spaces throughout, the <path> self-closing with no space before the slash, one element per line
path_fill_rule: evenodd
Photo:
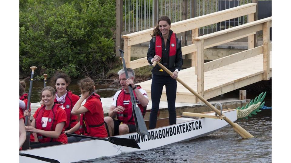
<path fill-rule="evenodd" d="M 25 126 L 27 132 L 37 134 L 36 142 L 30 142 L 30 148 L 40 148 L 52 145 L 68 143 L 64 134 L 64 126 L 67 123 L 67 116 L 60 104 L 55 104 L 55 89 L 45 87 L 42 89 L 42 101 L 44 105 L 39 107 L 30 123 L 30 112 L 25 110 L 24 116 L 28 116 L 28 123 Z"/>

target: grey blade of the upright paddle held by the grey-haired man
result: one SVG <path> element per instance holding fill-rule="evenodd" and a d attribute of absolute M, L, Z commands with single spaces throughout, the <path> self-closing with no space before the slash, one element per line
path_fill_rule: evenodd
<path fill-rule="evenodd" d="M 134 116 L 134 122 L 136 127 L 136 132 L 144 136 L 143 134 L 149 135 L 148 129 L 146 128 L 146 123 L 143 120 L 142 112 L 137 104 L 132 104 L 132 112 Z"/>

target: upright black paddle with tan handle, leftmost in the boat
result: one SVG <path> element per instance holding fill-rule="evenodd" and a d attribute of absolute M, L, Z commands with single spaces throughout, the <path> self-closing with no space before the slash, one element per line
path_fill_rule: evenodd
<path fill-rule="evenodd" d="M 26 110 L 29 110 L 29 107 L 30 107 L 30 97 L 31 97 L 33 75 L 34 75 L 34 70 L 37 69 L 37 67 L 31 66 L 30 69 L 32 70 L 32 72 L 31 72 L 31 77 L 30 77 L 30 85 L 29 85 L 28 101 L 27 101 Z M 27 121 L 28 121 L 28 116 L 25 116 L 25 122 L 24 122 L 25 126 L 27 126 L 27 123 L 28 123 Z M 30 132 L 26 132 L 26 139 L 22 145 L 22 149 L 29 149 L 29 140 L 30 140 Z"/>

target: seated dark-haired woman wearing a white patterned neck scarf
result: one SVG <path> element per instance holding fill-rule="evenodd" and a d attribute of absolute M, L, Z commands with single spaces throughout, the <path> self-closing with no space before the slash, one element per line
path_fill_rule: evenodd
<path fill-rule="evenodd" d="M 71 79 L 64 72 L 56 72 L 52 78 L 52 82 L 54 83 L 54 86 L 57 90 L 55 102 L 59 102 L 62 105 L 62 109 L 65 110 L 67 114 L 67 124 L 65 126 L 65 130 L 69 130 L 80 121 L 80 114 L 71 114 L 74 105 L 79 100 L 79 96 L 67 90 Z M 80 131 L 76 130 L 75 134 L 79 135 Z"/>

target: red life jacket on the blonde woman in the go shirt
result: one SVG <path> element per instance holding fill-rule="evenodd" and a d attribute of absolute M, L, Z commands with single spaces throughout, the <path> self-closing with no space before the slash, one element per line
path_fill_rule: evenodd
<path fill-rule="evenodd" d="M 58 107 L 60 107 L 60 104 L 54 104 L 54 106 L 52 107 L 52 110 L 49 113 L 49 117 L 48 117 L 48 122 L 46 124 L 45 127 L 45 131 L 54 131 L 55 128 L 53 127 L 53 124 L 55 122 L 55 114 L 57 112 Z M 38 114 L 36 115 L 36 119 L 35 119 L 35 128 L 36 129 L 42 129 L 42 115 L 44 113 L 45 110 L 45 105 L 43 105 L 41 107 L 41 109 L 38 111 Z M 62 134 L 62 133 L 61 133 Z M 43 142 L 52 142 L 53 138 L 49 138 L 46 136 L 42 136 L 41 134 L 36 134 L 38 137 L 39 142 L 43 143 Z"/>

